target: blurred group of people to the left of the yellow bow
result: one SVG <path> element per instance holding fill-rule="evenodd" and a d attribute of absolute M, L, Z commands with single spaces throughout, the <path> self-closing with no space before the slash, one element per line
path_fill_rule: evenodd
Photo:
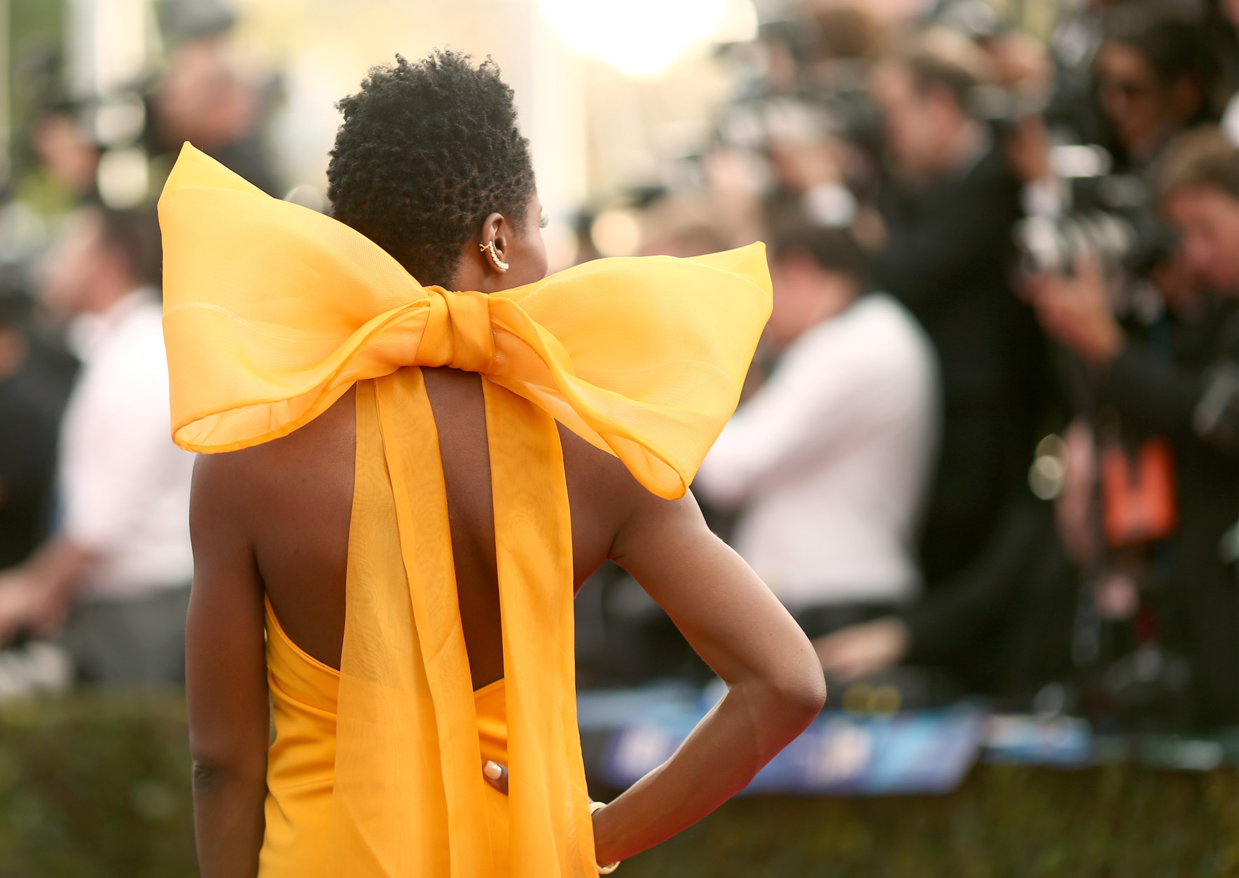
<path fill-rule="evenodd" d="M 167 1 L 165 63 L 72 94 L 25 47 L 0 208 L 0 696 L 176 685 L 193 570 L 193 456 L 171 442 L 155 198 L 185 141 L 282 194 L 235 16 Z"/>

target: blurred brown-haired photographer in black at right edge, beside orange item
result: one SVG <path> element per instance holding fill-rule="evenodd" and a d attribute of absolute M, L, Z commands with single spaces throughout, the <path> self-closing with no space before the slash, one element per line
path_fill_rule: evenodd
<path fill-rule="evenodd" d="M 1085 364 L 1103 421 L 1168 443 L 1157 454 L 1146 438 L 1130 464 L 1114 457 L 1104 530 L 1111 546 L 1132 541 L 1124 519 L 1129 530 L 1172 531 L 1158 620 L 1191 666 L 1194 723 L 1218 726 L 1239 719 L 1239 150 L 1217 129 L 1188 131 L 1158 160 L 1154 183 L 1180 235 L 1184 281 L 1170 301 L 1167 342 L 1125 331 L 1087 255 L 1074 274 L 1036 277 L 1028 291 L 1046 331 Z"/>

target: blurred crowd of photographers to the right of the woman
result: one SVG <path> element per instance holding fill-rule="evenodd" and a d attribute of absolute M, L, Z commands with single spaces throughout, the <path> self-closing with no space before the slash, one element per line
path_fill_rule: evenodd
<path fill-rule="evenodd" d="M 774 312 L 694 483 L 836 707 L 1239 722 L 1239 4 L 805 0 L 721 50 L 642 251 L 768 241 Z M 622 571 L 585 679 L 701 672 Z"/>

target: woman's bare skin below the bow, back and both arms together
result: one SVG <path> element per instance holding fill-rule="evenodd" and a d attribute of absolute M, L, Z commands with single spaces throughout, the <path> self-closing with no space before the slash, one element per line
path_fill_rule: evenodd
<path fill-rule="evenodd" d="M 447 488 L 461 622 L 478 689 L 503 676 L 481 379 L 452 369 L 424 372 Z M 186 679 L 203 878 L 256 873 L 271 741 L 264 596 L 294 643 L 339 666 L 354 406 L 349 391 L 290 436 L 206 454 L 195 467 Z M 576 585 L 603 560 L 615 560 L 729 684 L 727 695 L 665 765 L 595 815 L 596 854 L 612 862 L 674 835 L 742 789 L 817 715 L 825 689 L 809 640 L 710 532 L 691 493 L 660 499 L 617 458 L 563 427 L 560 441 Z"/>

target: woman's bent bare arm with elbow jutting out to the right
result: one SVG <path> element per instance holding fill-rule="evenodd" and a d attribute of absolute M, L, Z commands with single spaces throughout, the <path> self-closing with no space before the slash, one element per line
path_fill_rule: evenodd
<path fill-rule="evenodd" d="M 670 615 L 727 693 L 663 765 L 595 815 L 600 863 L 680 832 L 742 790 L 826 698 L 809 639 L 736 552 L 710 532 L 691 494 L 647 494 L 613 560 Z"/>

